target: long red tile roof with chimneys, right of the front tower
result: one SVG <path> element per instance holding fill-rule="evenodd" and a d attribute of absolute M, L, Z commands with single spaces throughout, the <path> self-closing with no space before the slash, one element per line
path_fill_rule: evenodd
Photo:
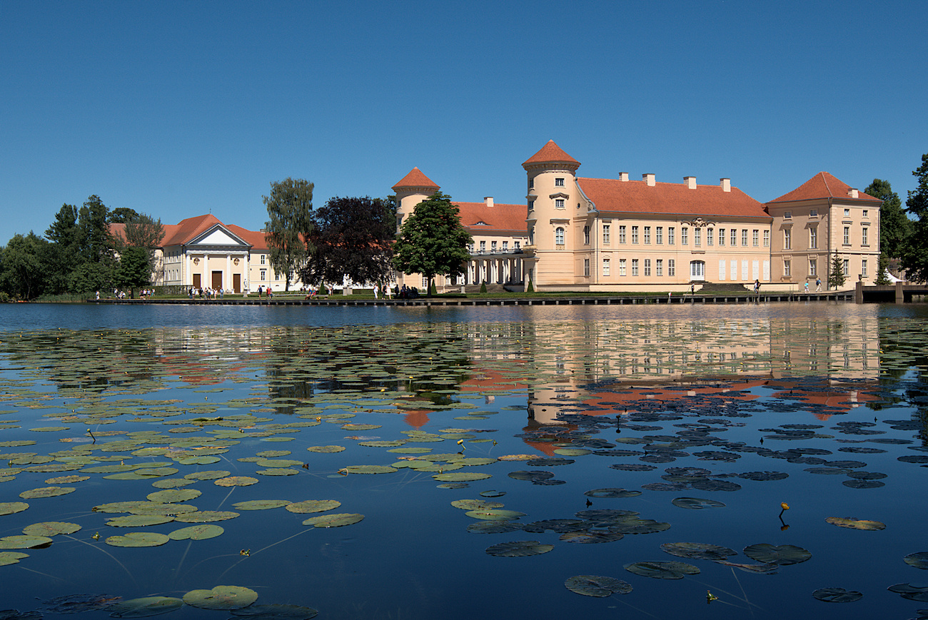
<path fill-rule="evenodd" d="M 683 183 L 658 183 L 651 187 L 646 181 L 590 178 L 578 178 L 577 183 L 600 212 L 770 219 L 763 203 L 737 187 L 731 187 L 731 191 L 715 185 L 690 189 Z"/>

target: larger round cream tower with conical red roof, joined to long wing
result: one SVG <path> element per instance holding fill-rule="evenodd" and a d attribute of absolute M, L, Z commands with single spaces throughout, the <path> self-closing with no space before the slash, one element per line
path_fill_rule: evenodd
<path fill-rule="evenodd" d="M 529 279 L 535 286 L 574 283 L 574 203 L 579 206 L 580 189 L 574 174 L 580 162 L 548 140 L 522 167 L 528 174 L 528 242 L 525 259 Z M 537 265 L 544 262 L 539 271 Z"/>

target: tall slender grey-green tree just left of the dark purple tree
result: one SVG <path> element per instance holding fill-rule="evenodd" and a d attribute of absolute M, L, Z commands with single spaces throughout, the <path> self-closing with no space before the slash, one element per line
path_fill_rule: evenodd
<path fill-rule="evenodd" d="M 290 291 L 290 278 L 303 265 L 306 242 L 313 232 L 313 184 L 288 176 L 272 182 L 270 197 L 262 198 L 270 218 L 264 224 L 264 240 L 271 266 L 286 275 L 284 290 Z"/>

